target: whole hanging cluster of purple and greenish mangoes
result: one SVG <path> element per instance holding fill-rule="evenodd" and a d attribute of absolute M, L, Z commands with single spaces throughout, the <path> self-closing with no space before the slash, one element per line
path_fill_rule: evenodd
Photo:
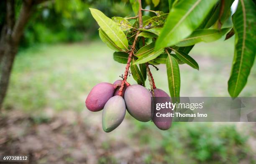
<path fill-rule="evenodd" d="M 99 83 L 92 88 L 85 100 L 88 110 L 95 112 L 103 109 L 102 128 L 105 132 L 113 131 L 122 123 L 126 109 L 138 121 L 151 120 L 152 91 L 149 92 L 148 89 L 138 84 L 125 85 L 122 95 L 119 96 L 121 83 L 122 80 L 117 80 L 113 84 Z M 165 91 L 158 88 L 154 89 L 154 96 L 169 97 Z M 171 101 L 171 98 L 169 100 Z M 161 130 L 169 129 L 172 124 L 172 119 L 161 121 L 153 117 L 152 121 Z"/>

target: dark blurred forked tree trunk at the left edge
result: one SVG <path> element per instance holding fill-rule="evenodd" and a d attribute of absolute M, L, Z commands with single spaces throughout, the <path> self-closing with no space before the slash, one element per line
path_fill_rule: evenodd
<path fill-rule="evenodd" d="M 31 15 L 32 6 L 33 0 L 23 0 L 19 17 L 15 21 L 14 0 L 6 0 L 6 24 L 2 29 L 0 38 L 0 109 L 8 89 L 10 73 L 20 38 Z"/>

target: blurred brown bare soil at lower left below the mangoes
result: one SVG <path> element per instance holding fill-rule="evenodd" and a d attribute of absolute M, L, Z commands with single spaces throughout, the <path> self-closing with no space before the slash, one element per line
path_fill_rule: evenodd
<path fill-rule="evenodd" d="M 121 164 L 143 163 L 141 156 L 146 150 L 115 133 L 106 138 L 101 124 L 96 121 L 89 126 L 82 117 L 85 114 L 73 111 L 53 114 L 51 110 L 46 114 L 49 119 L 38 124 L 20 111 L 5 112 L 0 118 L 0 155 L 29 155 L 30 160 L 21 164 L 112 164 L 113 159 L 120 159 Z M 122 126 L 127 124 L 124 121 Z M 122 133 L 125 136 L 127 132 Z"/>

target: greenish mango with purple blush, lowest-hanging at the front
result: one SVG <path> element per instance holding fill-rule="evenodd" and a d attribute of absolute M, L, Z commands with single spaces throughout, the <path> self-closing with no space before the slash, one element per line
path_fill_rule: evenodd
<path fill-rule="evenodd" d="M 102 128 L 105 132 L 113 131 L 125 117 L 125 101 L 122 96 L 113 96 L 105 104 L 102 112 Z"/>

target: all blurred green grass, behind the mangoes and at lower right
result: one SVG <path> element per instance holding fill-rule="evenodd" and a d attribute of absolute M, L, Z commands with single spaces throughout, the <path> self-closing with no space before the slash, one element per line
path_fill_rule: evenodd
<path fill-rule="evenodd" d="M 199 63 L 200 71 L 186 65 L 180 66 L 181 96 L 229 96 L 227 82 L 233 60 L 233 41 L 218 40 L 195 46 L 190 55 Z M 95 84 L 113 83 L 123 74 L 125 65 L 113 61 L 112 53 L 98 40 L 41 45 L 23 50 L 15 59 L 4 107 L 29 114 L 43 113 L 47 108 L 83 111 L 84 99 Z M 166 68 L 164 65 L 158 67 L 159 71 L 151 68 L 156 86 L 168 92 Z M 128 81 L 135 83 L 132 77 Z M 256 96 L 255 81 L 254 65 L 240 96 Z M 149 88 L 148 81 L 146 86 Z M 128 114 L 125 119 L 133 124 L 129 132 L 131 140 L 135 139 L 140 147 L 149 149 L 144 157 L 146 164 L 168 161 L 235 164 L 251 157 L 248 137 L 233 125 L 174 123 L 169 131 L 159 131 L 152 122 L 141 123 L 131 119 Z M 41 114 L 34 117 L 34 121 L 40 124 L 48 120 Z M 244 129 L 249 128 L 246 126 Z M 109 149 L 109 143 L 102 146 Z M 72 162 L 69 158 L 65 160 Z M 112 156 L 106 156 L 98 163 L 105 164 L 109 160 L 113 163 L 116 161 Z M 250 160 L 248 162 L 255 162 Z"/>

